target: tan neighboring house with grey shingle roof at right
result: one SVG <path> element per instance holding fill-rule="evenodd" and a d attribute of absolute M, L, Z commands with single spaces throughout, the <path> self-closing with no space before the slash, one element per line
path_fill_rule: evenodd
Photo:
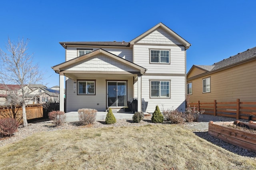
<path fill-rule="evenodd" d="M 256 47 L 187 73 L 190 102 L 256 101 Z"/>

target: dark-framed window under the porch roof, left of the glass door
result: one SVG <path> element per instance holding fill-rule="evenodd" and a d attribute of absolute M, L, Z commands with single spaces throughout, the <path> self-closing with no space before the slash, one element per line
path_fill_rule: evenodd
<path fill-rule="evenodd" d="M 95 81 L 78 81 L 78 95 L 95 95 Z"/>

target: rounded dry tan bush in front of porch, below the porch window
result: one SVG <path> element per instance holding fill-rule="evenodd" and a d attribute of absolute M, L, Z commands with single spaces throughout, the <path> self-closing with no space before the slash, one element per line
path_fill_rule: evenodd
<path fill-rule="evenodd" d="M 79 109 L 78 117 L 82 125 L 89 125 L 96 120 L 97 110 L 95 109 Z"/>

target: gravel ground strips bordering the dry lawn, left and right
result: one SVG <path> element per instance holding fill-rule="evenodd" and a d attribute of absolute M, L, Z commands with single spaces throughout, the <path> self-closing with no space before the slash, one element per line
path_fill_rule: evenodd
<path fill-rule="evenodd" d="M 246 149 L 240 148 L 233 144 L 229 144 L 227 142 L 224 142 L 208 134 L 209 121 L 235 121 L 235 120 L 236 119 L 227 118 L 227 117 L 214 117 L 210 115 L 200 115 L 198 122 L 185 123 L 181 126 L 184 126 L 184 128 L 188 128 L 192 130 L 200 138 L 203 138 L 217 146 L 220 146 L 226 150 L 229 150 L 230 152 L 236 153 L 241 156 L 250 157 L 256 160 L 255 152 L 248 151 Z M 240 121 L 245 122 L 246 120 L 240 120 Z M 145 117 L 144 120 L 141 121 L 140 123 L 132 123 L 132 120 L 127 120 L 127 119 L 117 119 L 116 123 L 112 125 L 106 125 L 105 121 L 102 120 L 102 121 L 96 121 L 93 125 L 88 125 L 88 126 L 78 126 L 74 122 L 74 123 L 64 123 L 64 125 L 62 126 L 55 127 L 51 121 L 43 121 L 43 122 L 30 123 L 27 128 L 23 128 L 22 126 L 20 126 L 18 128 L 18 132 L 16 132 L 14 136 L 10 138 L 0 137 L 0 146 L 4 146 L 9 143 L 15 143 L 16 141 L 26 138 L 27 136 L 30 136 L 31 134 L 37 133 L 37 132 L 47 132 L 47 131 L 54 131 L 54 130 L 60 130 L 60 129 L 143 126 L 143 125 L 156 125 L 156 124 L 157 123 L 151 123 L 150 117 Z"/>

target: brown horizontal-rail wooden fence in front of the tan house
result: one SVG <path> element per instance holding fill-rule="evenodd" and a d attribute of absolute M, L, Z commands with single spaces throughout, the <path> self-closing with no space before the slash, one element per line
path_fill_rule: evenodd
<path fill-rule="evenodd" d="M 256 102 L 242 102 L 236 99 L 234 102 L 201 102 L 190 103 L 191 107 L 204 110 L 206 115 L 233 117 L 236 119 L 248 119 L 254 115 L 252 120 L 256 121 Z"/>

